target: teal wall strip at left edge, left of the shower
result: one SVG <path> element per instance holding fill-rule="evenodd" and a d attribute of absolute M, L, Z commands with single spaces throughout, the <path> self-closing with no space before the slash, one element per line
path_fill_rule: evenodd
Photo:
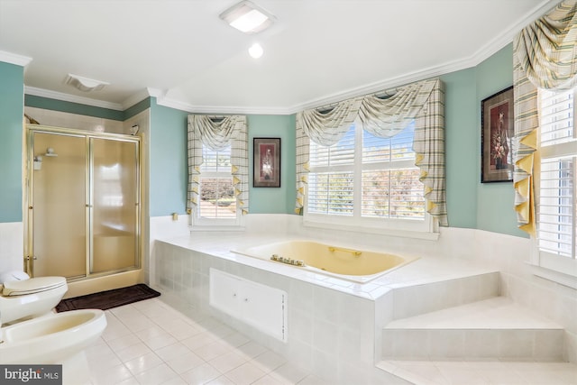
<path fill-rule="evenodd" d="M 0 223 L 22 222 L 23 67 L 0 62 Z"/>

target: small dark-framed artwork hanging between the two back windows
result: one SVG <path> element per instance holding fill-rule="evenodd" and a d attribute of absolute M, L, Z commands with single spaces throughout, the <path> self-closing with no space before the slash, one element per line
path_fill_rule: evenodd
<path fill-rule="evenodd" d="M 254 138 L 252 166 L 255 188 L 280 187 L 280 138 Z"/>

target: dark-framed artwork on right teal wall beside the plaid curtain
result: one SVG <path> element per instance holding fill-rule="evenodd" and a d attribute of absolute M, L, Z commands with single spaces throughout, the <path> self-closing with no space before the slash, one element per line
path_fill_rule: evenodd
<path fill-rule="evenodd" d="M 513 180 L 513 87 L 481 101 L 481 183 Z"/>

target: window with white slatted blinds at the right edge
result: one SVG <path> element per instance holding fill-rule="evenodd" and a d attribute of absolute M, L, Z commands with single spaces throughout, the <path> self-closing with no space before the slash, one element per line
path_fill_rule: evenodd
<path fill-rule="evenodd" d="M 570 275 L 577 275 L 575 92 L 575 89 L 563 92 L 539 90 L 539 265 Z"/>

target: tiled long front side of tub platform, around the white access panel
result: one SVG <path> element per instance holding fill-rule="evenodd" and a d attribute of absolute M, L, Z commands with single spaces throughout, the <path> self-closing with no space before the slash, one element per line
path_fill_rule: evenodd
<path fill-rule="evenodd" d="M 215 236 L 213 243 L 218 238 Z M 342 291 L 266 270 L 270 261 L 239 257 L 241 260 L 250 259 L 254 264 L 261 263 L 259 268 L 234 261 L 234 255 L 227 259 L 214 256 L 213 253 L 157 242 L 154 255 L 157 257 L 156 270 L 160 273 L 158 289 L 164 300 L 185 315 L 212 314 L 258 344 L 282 354 L 305 371 L 316 372 L 325 380 L 343 378 L 345 371 L 351 375 L 347 377 L 350 380 L 361 380 L 361 383 L 372 380 L 367 378 L 370 371 L 351 372 L 357 369 L 359 362 L 364 363 L 361 366 L 363 369 L 373 365 L 375 326 L 371 299 L 347 295 Z M 159 257 L 162 259 L 160 263 Z M 208 280 L 211 268 L 287 292 L 289 341 L 282 343 L 209 307 Z M 277 268 L 291 269 L 289 266 Z M 343 362 L 346 367 L 343 367 Z"/>

